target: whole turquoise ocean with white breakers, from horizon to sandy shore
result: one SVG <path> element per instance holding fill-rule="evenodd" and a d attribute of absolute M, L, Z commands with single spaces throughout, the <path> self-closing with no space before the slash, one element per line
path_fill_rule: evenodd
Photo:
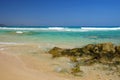
<path fill-rule="evenodd" d="M 112 42 L 120 45 L 120 27 L 115 26 L 7 26 L 0 27 L 0 44 L 36 43 L 81 47 Z"/>

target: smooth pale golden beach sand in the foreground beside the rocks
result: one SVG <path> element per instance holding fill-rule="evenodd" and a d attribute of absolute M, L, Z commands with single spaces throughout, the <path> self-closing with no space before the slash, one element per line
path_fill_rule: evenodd
<path fill-rule="evenodd" d="M 68 69 L 68 58 L 52 59 L 37 44 L 0 45 L 0 80 L 119 80 L 117 74 L 93 66 L 81 66 L 81 77 L 57 72 Z M 100 67 L 100 65 L 98 65 Z M 109 74 L 109 75 L 108 75 Z"/>

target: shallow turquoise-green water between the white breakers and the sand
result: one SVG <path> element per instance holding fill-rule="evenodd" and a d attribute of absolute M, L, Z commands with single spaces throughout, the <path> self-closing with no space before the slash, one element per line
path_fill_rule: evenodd
<path fill-rule="evenodd" d="M 84 46 L 90 43 L 112 42 L 120 44 L 120 31 L 40 31 L 0 30 L 0 41 L 33 42 Z"/>

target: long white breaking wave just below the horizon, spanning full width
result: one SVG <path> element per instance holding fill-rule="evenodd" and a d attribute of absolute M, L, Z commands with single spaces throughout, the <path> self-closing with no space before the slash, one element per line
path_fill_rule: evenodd
<path fill-rule="evenodd" d="M 0 30 L 37 30 L 37 31 L 72 31 L 72 32 L 86 32 L 86 31 L 105 31 L 105 30 L 120 30 L 120 27 L 0 27 Z"/>

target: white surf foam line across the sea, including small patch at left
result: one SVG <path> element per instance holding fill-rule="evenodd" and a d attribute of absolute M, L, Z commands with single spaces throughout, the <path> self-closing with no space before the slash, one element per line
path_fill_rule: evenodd
<path fill-rule="evenodd" d="M 81 27 L 81 28 L 67 28 L 67 27 L 48 27 L 48 28 L 8 28 L 0 27 L 0 30 L 17 30 L 16 33 L 22 34 L 26 31 L 68 31 L 68 32 L 87 32 L 87 31 L 105 31 L 105 30 L 120 30 L 120 27 L 114 28 L 96 28 L 96 27 Z"/>

